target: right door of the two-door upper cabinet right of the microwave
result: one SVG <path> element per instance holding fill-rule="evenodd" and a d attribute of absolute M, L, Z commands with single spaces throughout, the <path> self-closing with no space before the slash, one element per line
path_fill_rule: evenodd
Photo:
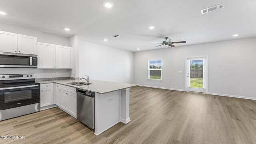
<path fill-rule="evenodd" d="M 72 68 L 72 48 L 56 45 L 56 68 Z"/>

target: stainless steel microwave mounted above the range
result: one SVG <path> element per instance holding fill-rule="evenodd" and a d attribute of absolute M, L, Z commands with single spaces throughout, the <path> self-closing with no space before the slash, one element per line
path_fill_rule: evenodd
<path fill-rule="evenodd" d="M 37 68 L 37 56 L 0 53 L 0 68 Z"/>

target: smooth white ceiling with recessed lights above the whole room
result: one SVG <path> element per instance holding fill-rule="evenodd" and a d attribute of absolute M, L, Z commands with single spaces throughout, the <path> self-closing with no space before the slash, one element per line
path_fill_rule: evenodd
<path fill-rule="evenodd" d="M 256 36 L 256 0 L 106 1 L 114 7 L 105 8 L 105 0 L 0 0 L 0 11 L 7 13 L 0 22 L 66 37 L 77 34 L 87 42 L 130 51 L 155 49 L 157 44 L 149 43 L 166 36 L 187 41 L 177 46 L 232 40 L 233 34 Z M 221 3 L 224 9 L 201 14 Z M 111 38 L 114 34 L 120 37 Z"/>

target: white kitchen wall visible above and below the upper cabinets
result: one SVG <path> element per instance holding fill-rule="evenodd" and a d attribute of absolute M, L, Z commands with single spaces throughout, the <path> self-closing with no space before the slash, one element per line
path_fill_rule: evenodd
<path fill-rule="evenodd" d="M 37 37 L 38 42 L 45 42 L 50 44 L 58 44 L 62 46 L 70 46 L 69 39 L 63 36 L 57 36 L 54 34 L 49 34 L 45 32 L 40 32 L 36 30 L 30 30 L 27 28 L 22 28 L 18 26 L 12 26 L 8 24 L 0 23 L 0 30 L 6 32 L 13 32 L 17 34 L 24 34 L 28 36 Z M 56 75 L 59 72 L 59 75 Z M 35 69 L 35 68 L 0 68 L 0 74 L 36 74 L 36 78 L 51 78 L 51 77 L 66 77 L 70 76 L 70 70 L 48 70 L 48 69 Z"/>

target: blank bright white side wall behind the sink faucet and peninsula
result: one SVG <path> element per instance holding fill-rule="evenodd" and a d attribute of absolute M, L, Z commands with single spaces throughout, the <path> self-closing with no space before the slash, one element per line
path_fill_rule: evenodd
<path fill-rule="evenodd" d="M 134 82 L 134 52 L 79 41 L 79 77 Z"/>

